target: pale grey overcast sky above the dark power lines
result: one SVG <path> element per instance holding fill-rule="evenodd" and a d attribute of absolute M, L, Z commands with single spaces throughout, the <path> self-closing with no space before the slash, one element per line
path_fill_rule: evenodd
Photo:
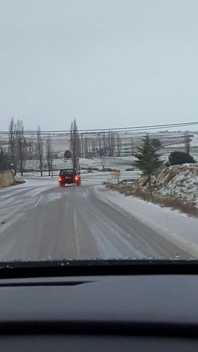
<path fill-rule="evenodd" d="M 197 121 L 197 0 L 0 0 L 0 130 Z"/>

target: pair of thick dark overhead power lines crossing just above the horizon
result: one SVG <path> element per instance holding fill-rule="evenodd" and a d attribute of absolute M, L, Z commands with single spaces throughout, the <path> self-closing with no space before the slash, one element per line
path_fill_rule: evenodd
<path fill-rule="evenodd" d="M 155 130 L 162 128 L 173 128 L 173 127 L 184 127 L 184 126 L 194 126 L 198 125 L 198 122 L 184 122 L 184 123 L 176 123 L 176 124 L 162 124 L 162 125 L 150 125 L 150 126 L 138 126 L 138 127 L 117 127 L 110 129 L 87 129 L 87 130 L 78 130 L 76 133 L 82 134 L 99 134 L 99 133 L 123 133 L 123 132 L 133 132 L 133 131 L 144 131 L 144 130 Z M 9 132 L 9 131 L 0 131 L 0 134 L 17 134 L 21 132 Z M 24 131 L 24 135 L 37 135 L 37 131 Z M 75 132 L 73 132 L 75 133 Z M 56 131 L 41 131 L 40 135 L 48 135 L 48 134 L 62 134 L 69 135 L 69 130 L 56 130 Z"/>

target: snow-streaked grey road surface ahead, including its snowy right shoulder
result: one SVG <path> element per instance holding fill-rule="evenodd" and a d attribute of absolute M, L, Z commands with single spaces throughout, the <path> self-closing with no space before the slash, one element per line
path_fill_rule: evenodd
<path fill-rule="evenodd" d="M 141 221 L 138 200 L 130 203 L 131 197 L 117 195 L 116 203 L 112 197 L 102 186 L 60 188 L 57 181 L 38 179 L 0 190 L 0 221 L 5 222 L 0 225 L 0 260 L 198 258 L 193 233 L 191 239 L 166 234 L 151 216 L 148 223 Z M 167 219 L 166 213 L 161 216 Z M 191 221 L 196 232 L 196 220 L 177 216 Z M 171 221 L 170 216 L 166 222 Z"/>

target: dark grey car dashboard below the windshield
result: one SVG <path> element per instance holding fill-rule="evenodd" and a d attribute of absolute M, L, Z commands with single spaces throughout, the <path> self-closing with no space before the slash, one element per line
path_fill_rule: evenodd
<path fill-rule="evenodd" d="M 57 276 L 48 268 L 44 277 L 32 270 L 27 277 L 28 268 L 21 277 L 10 270 L 0 280 L 0 348 L 197 350 L 196 266 L 188 274 L 179 274 L 179 266 L 172 274 L 168 266 L 163 274 L 154 266 L 141 273 L 104 266 L 97 275 L 96 268 L 81 267 L 80 275 L 66 268 Z"/>

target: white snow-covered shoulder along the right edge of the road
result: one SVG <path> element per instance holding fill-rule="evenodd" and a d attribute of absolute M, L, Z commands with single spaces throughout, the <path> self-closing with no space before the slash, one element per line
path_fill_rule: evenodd
<path fill-rule="evenodd" d="M 94 191 L 101 200 L 111 203 L 117 209 L 118 216 L 119 212 L 127 212 L 180 248 L 187 249 L 190 255 L 198 257 L 197 219 L 133 196 L 125 197 L 104 186 L 94 186 Z"/>

